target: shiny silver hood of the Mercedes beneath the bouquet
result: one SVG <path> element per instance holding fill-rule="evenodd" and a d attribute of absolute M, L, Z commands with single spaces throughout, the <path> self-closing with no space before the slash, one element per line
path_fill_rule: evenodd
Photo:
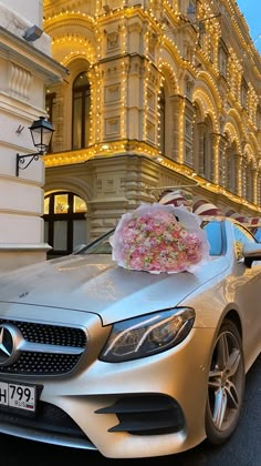
<path fill-rule="evenodd" d="M 72 255 L 0 275 L 0 302 L 95 313 L 108 324 L 176 306 L 227 267 L 217 257 L 196 273 L 152 274 L 119 267 L 111 255 Z"/>

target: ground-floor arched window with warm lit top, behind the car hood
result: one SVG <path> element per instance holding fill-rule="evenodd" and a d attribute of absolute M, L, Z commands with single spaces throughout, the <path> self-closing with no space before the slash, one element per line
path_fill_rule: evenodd
<path fill-rule="evenodd" d="M 44 199 L 44 241 L 49 256 L 71 254 L 86 244 L 86 203 L 72 192 L 55 192 Z"/>

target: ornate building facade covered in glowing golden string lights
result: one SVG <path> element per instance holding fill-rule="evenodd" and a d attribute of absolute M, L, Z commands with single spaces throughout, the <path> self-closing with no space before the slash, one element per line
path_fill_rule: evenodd
<path fill-rule="evenodd" d="M 45 241 L 54 253 L 190 190 L 261 209 L 261 59 L 234 0 L 44 0 L 69 75 L 49 87 Z"/>

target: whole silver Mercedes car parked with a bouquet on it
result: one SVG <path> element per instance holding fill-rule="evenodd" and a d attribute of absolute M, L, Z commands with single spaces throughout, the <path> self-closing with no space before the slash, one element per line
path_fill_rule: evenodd
<path fill-rule="evenodd" d="M 158 275 L 109 236 L 0 277 L 0 430 L 112 458 L 169 455 L 234 432 L 261 350 L 261 244 L 202 219 L 211 259 Z"/>

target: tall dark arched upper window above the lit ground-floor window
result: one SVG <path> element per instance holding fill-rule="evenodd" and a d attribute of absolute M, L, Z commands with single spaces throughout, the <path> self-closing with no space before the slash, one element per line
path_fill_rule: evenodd
<path fill-rule="evenodd" d="M 72 149 L 87 148 L 90 141 L 91 88 L 86 72 L 73 83 L 73 141 Z"/>

